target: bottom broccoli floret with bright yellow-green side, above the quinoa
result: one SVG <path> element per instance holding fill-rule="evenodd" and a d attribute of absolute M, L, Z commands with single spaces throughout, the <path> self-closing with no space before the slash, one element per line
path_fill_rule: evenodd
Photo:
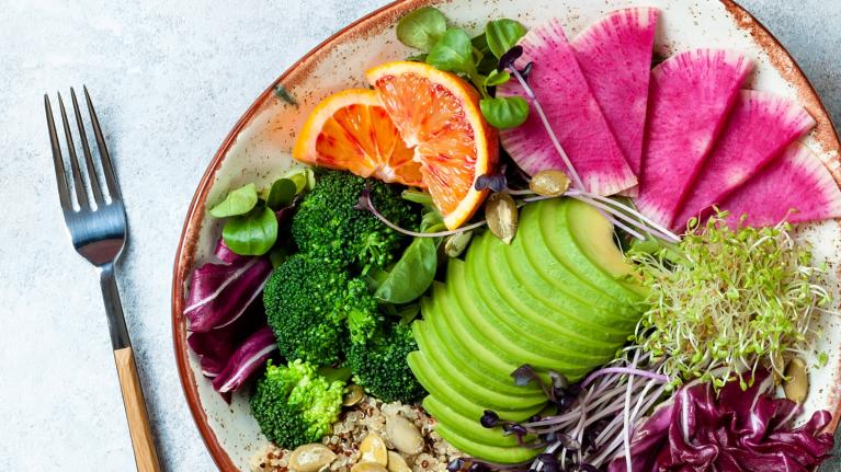
<path fill-rule="evenodd" d="M 269 440 L 294 449 L 330 433 L 342 410 L 344 384 L 321 377 L 315 366 L 300 360 L 287 367 L 269 360 L 251 395 L 251 413 Z"/>

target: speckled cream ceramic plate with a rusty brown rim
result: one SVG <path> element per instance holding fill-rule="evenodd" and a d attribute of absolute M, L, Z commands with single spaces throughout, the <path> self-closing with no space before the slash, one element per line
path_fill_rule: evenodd
<path fill-rule="evenodd" d="M 431 0 L 396 1 L 338 32 L 295 62 L 257 97 L 234 126 L 209 162 L 190 205 L 179 241 L 172 280 L 173 342 L 182 387 L 200 433 L 220 470 L 246 470 L 248 458 L 258 452 L 261 442 L 259 436 L 249 429 L 249 425 L 242 423 L 242 417 L 248 416 L 243 404 L 235 399 L 228 407 L 219 403 L 217 395 L 211 394 L 212 391 L 207 391 L 204 385 L 206 382 L 201 379 L 201 372 L 197 371 L 196 359 L 191 357 L 186 346 L 186 326 L 182 314 L 186 295 L 184 284 L 194 263 L 203 261 L 213 251 L 209 241 L 214 238 L 211 235 L 215 231 L 218 234 L 218 228 L 214 228 L 208 220 L 205 220 L 207 200 L 216 198 L 223 188 L 259 175 L 261 170 L 266 168 L 266 161 L 258 154 L 262 151 L 285 152 L 294 139 L 294 129 L 299 126 L 299 118 L 296 116 L 305 115 L 304 111 L 332 91 L 359 85 L 360 79 L 352 78 L 353 73 L 361 77 L 361 72 L 373 64 L 375 56 L 399 57 L 402 51 L 391 44 L 394 33 L 390 27 L 409 11 L 436 4 L 445 10 L 448 16 L 457 18 L 458 21 L 464 20 L 465 23 L 469 18 L 475 20 L 477 15 L 486 12 L 491 14 L 496 11 L 492 14 L 522 16 L 524 23 L 532 25 L 536 24 L 539 15 L 552 7 L 557 15 L 569 16 L 573 26 L 580 27 L 606 10 L 613 10 L 616 7 L 614 3 L 617 2 L 609 0 L 599 2 L 599 5 L 592 5 L 593 2 L 590 1 L 572 0 L 564 2 L 564 7 L 560 8 L 557 3 L 555 0 L 453 0 L 445 3 Z M 627 3 L 622 2 L 622 4 Z M 657 0 L 646 3 L 666 4 L 664 1 Z M 716 24 L 724 25 L 721 26 L 724 32 L 750 37 L 750 42 L 755 44 L 763 55 L 760 68 L 768 71 L 763 77 L 779 77 L 782 82 L 785 82 L 786 90 L 796 95 L 798 102 L 815 117 L 817 126 L 810 135 L 809 146 L 818 150 L 821 158 L 832 162 L 831 169 L 836 181 L 841 180 L 841 174 L 837 171 L 839 166 L 837 131 L 817 93 L 783 46 L 736 2 L 706 0 L 692 3 L 692 7 L 697 7 L 698 11 L 716 12 L 718 22 Z M 672 18 L 679 13 L 677 11 L 679 9 L 680 5 L 670 5 L 664 10 L 664 14 L 667 18 Z M 502 13 L 500 14 L 498 10 Z M 689 23 L 686 30 L 691 30 Z M 674 46 L 666 44 L 662 48 L 664 53 L 671 53 Z M 343 59 L 349 57 L 359 59 L 360 62 L 359 66 L 351 66 L 350 71 L 348 60 Z M 299 100 L 299 108 L 279 104 L 276 91 L 281 88 L 291 91 L 293 96 Z M 250 149 L 250 152 L 246 152 L 247 149 Z M 248 175 L 243 176 L 243 174 Z M 834 238 L 839 232 L 834 225 L 832 228 L 815 231 L 827 238 Z M 832 252 L 836 249 L 827 247 L 826 251 Z M 833 383 L 839 383 L 841 371 L 831 372 L 830 379 Z M 826 399 L 826 405 L 833 411 L 833 422 L 828 428 L 834 429 L 841 416 L 839 394 L 827 392 Z M 245 407 L 247 408 L 247 405 Z"/>

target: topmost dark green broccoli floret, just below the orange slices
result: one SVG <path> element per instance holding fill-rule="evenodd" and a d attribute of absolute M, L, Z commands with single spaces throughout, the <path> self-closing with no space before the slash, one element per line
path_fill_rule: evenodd
<path fill-rule="evenodd" d="M 385 267 L 405 241 L 370 211 L 354 208 L 368 186 L 376 209 L 391 222 L 414 229 L 418 211 L 394 187 L 348 172 L 327 171 L 300 203 L 292 235 L 302 252 L 331 264 L 355 264 L 366 273 Z"/>

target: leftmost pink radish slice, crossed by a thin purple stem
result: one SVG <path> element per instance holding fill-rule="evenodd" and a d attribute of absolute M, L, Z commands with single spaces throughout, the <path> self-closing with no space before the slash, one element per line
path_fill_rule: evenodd
<path fill-rule="evenodd" d="M 612 195 L 636 185 L 637 179 L 590 92 L 560 23 L 552 20 L 530 31 L 520 44 L 524 51 L 519 67 L 533 62 L 529 84 L 586 189 Z M 526 97 L 516 80 L 499 87 L 497 94 Z M 548 169 L 569 172 L 534 106 L 522 126 L 501 130 L 500 138 L 502 147 L 531 175 Z"/>

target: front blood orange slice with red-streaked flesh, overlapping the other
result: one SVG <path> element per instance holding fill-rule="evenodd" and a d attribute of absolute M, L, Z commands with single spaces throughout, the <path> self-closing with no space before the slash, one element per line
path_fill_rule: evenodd
<path fill-rule="evenodd" d="M 492 172 L 497 130 L 479 111 L 479 93 L 455 74 L 422 62 L 396 61 L 366 72 L 388 116 L 414 160 L 432 199 L 455 229 L 479 208 L 487 191 L 476 191 L 481 174 Z"/>

